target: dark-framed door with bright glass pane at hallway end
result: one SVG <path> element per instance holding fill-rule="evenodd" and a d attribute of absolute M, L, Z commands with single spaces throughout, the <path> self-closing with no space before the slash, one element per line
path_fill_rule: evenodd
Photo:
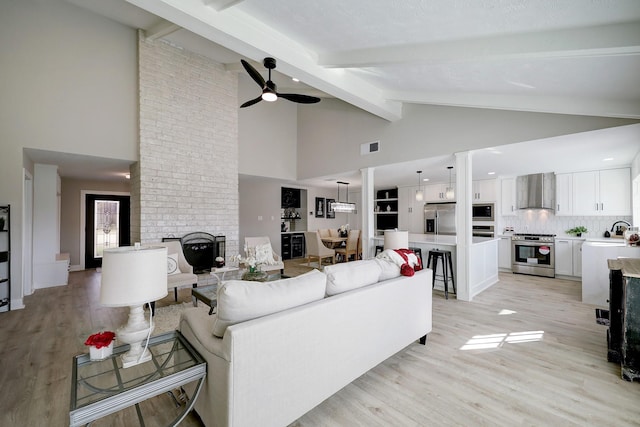
<path fill-rule="evenodd" d="M 131 245 L 129 196 L 87 194 L 85 211 L 85 268 L 102 266 L 106 248 Z"/>

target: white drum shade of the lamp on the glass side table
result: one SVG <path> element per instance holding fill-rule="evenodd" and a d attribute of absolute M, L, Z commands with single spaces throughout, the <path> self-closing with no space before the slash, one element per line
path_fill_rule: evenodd
<path fill-rule="evenodd" d="M 167 248 L 161 246 L 105 249 L 102 254 L 100 304 L 142 305 L 167 296 Z"/>

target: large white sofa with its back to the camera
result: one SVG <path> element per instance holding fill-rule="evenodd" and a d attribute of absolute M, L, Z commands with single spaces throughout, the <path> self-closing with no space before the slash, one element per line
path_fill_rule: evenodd
<path fill-rule="evenodd" d="M 298 296 L 283 309 L 287 292 Z M 272 303 L 277 312 L 265 315 Z M 241 321 L 252 310 L 261 317 Z M 207 361 L 195 409 L 208 427 L 286 426 L 393 354 L 424 344 L 431 319 L 431 270 L 399 276 L 383 260 L 278 282 L 225 282 L 217 315 L 188 309 L 180 320 Z"/>

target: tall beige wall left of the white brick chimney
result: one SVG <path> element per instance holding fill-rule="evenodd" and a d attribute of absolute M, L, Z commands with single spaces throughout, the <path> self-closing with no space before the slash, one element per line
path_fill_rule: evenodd
<path fill-rule="evenodd" d="M 22 295 L 23 148 L 137 160 L 134 30 L 62 0 L 0 2 L 0 202 Z"/>

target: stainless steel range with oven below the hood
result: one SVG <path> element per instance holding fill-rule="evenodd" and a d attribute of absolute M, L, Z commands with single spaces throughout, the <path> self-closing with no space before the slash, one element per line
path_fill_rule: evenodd
<path fill-rule="evenodd" d="M 554 240 L 555 234 L 514 234 L 511 237 L 511 270 L 556 277 Z"/>

